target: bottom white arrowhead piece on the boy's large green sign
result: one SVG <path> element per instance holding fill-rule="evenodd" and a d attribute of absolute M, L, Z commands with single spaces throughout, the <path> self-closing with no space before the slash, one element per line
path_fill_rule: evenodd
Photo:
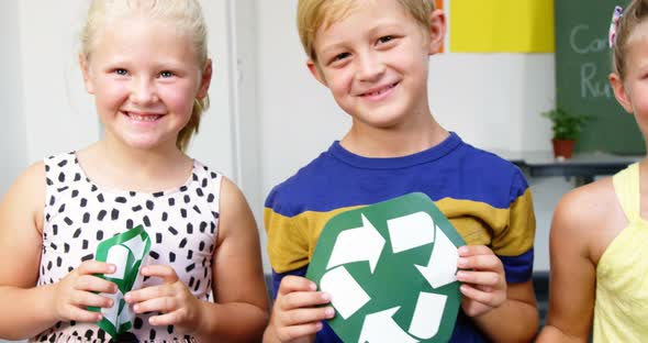
<path fill-rule="evenodd" d="M 417 343 L 418 341 L 410 336 L 393 320 L 392 316 L 400 308 L 400 306 L 396 306 L 389 310 L 367 314 L 358 343 Z"/>

